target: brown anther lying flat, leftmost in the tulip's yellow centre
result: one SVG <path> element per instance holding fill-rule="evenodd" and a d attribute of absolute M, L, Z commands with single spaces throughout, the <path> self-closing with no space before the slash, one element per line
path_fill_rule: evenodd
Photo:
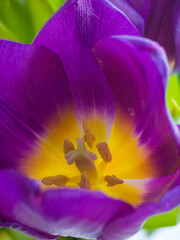
<path fill-rule="evenodd" d="M 70 178 L 66 177 L 65 175 L 57 175 L 57 176 L 50 176 L 45 177 L 41 180 L 47 186 L 56 185 L 56 186 L 63 186 L 65 185 Z"/>

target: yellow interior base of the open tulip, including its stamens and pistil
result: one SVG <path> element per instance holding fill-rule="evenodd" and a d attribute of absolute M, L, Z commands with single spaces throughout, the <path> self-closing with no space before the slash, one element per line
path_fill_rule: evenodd
<path fill-rule="evenodd" d="M 77 123 L 75 114 L 67 111 L 51 121 L 43 137 L 38 136 L 22 172 L 45 188 L 101 190 L 138 204 L 145 193 L 145 182 L 139 184 L 138 179 L 152 177 L 154 168 L 148 148 L 139 143 L 127 117 L 119 114 L 107 126 L 100 114 Z"/>

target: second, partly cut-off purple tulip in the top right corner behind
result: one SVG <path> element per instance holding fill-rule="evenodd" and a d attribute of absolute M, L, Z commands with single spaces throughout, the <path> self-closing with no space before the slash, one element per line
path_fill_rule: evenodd
<path fill-rule="evenodd" d="M 179 0 L 109 0 L 123 11 L 142 36 L 157 41 L 168 55 L 170 65 L 180 71 Z"/>

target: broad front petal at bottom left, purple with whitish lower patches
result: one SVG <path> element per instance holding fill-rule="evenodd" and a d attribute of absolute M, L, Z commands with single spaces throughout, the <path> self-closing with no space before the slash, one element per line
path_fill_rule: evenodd
<path fill-rule="evenodd" d="M 59 234 L 97 238 L 117 212 L 121 217 L 133 212 L 130 205 L 98 191 L 62 188 L 41 192 L 33 180 L 11 170 L 0 171 L 0 179 L 3 226 L 20 226 L 19 230 L 41 239 Z"/>

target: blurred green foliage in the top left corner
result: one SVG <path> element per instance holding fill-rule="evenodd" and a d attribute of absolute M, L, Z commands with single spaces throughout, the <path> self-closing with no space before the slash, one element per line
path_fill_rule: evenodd
<path fill-rule="evenodd" d="M 31 43 L 63 0 L 0 0 L 0 38 Z"/>

